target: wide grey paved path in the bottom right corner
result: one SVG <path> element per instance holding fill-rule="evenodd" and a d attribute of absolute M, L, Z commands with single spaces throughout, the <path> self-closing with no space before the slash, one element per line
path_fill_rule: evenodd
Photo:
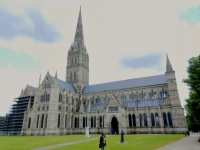
<path fill-rule="evenodd" d="M 158 150 L 200 150 L 199 135 L 191 135 Z"/>

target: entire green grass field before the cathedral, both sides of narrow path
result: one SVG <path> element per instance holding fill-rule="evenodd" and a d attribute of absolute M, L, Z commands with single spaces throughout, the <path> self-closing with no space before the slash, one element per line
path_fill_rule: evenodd
<path fill-rule="evenodd" d="M 100 135 L 90 135 L 90 138 L 100 137 Z M 134 134 L 125 135 L 125 143 L 120 144 L 120 135 L 107 136 L 106 150 L 155 150 L 173 141 L 183 138 L 183 135 L 154 135 L 154 134 Z M 65 136 L 0 136 L 0 150 L 29 150 L 46 147 L 61 143 L 84 140 L 84 135 Z M 98 148 L 97 140 L 60 147 L 56 150 L 95 150 Z"/>

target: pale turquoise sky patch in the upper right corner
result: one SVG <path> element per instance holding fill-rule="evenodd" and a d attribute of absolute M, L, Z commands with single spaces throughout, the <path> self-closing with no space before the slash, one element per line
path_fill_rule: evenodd
<path fill-rule="evenodd" d="M 186 21 L 192 26 L 200 23 L 200 5 L 181 12 L 179 14 L 179 20 Z"/>

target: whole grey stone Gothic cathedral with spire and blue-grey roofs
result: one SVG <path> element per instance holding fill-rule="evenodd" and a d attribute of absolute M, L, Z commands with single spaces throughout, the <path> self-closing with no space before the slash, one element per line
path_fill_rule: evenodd
<path fill-rule="evenodd" d="M 41 78 L 40 78 L 41 80 Z M 175 71 L 166 56 L 161 75 L 89 85 L 81 10 L 67 56 L 66 79 L 49 72 L 24 113 L 22 135 L 182 133 L 187 130 Z"/>

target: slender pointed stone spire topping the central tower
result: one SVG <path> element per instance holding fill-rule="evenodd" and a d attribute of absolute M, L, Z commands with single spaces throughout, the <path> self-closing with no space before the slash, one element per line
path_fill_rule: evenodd
<path fill-rule="evenodd" d="M 74 37 L 74 47 L 77 50 L 80 50 L 82 47 L 84 47 L 81 6 L 80 6 L 80 11 L 79 11 L 79 16 L 78 16 L 78 22 L 77 22 L 77 26 L 76 26 L 76 33 L 75 33 L 75 37 Z"/>

